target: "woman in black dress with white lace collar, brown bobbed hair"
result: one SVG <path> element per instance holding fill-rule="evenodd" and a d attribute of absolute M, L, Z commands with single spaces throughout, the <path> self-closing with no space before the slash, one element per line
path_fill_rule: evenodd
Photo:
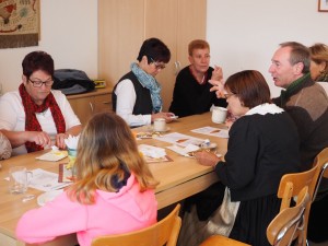
<path fill-rule="evenodd" d="M 199 234 L 200 242 L 223 234 L 254 246 L 270 245 L 266 229 L 280 209 L 280 179 L 301 171 L 297 129 L 290 116 L 271 103 L 260 72 L 237 72 L 224 89 L 227 108 L 238 117 L 230 129 L 224 160 L 209 152 L 195 154 L 200 164 L 213 167 L 225 186 L 224 199 L 206 226 L 191 233 Z"/>

